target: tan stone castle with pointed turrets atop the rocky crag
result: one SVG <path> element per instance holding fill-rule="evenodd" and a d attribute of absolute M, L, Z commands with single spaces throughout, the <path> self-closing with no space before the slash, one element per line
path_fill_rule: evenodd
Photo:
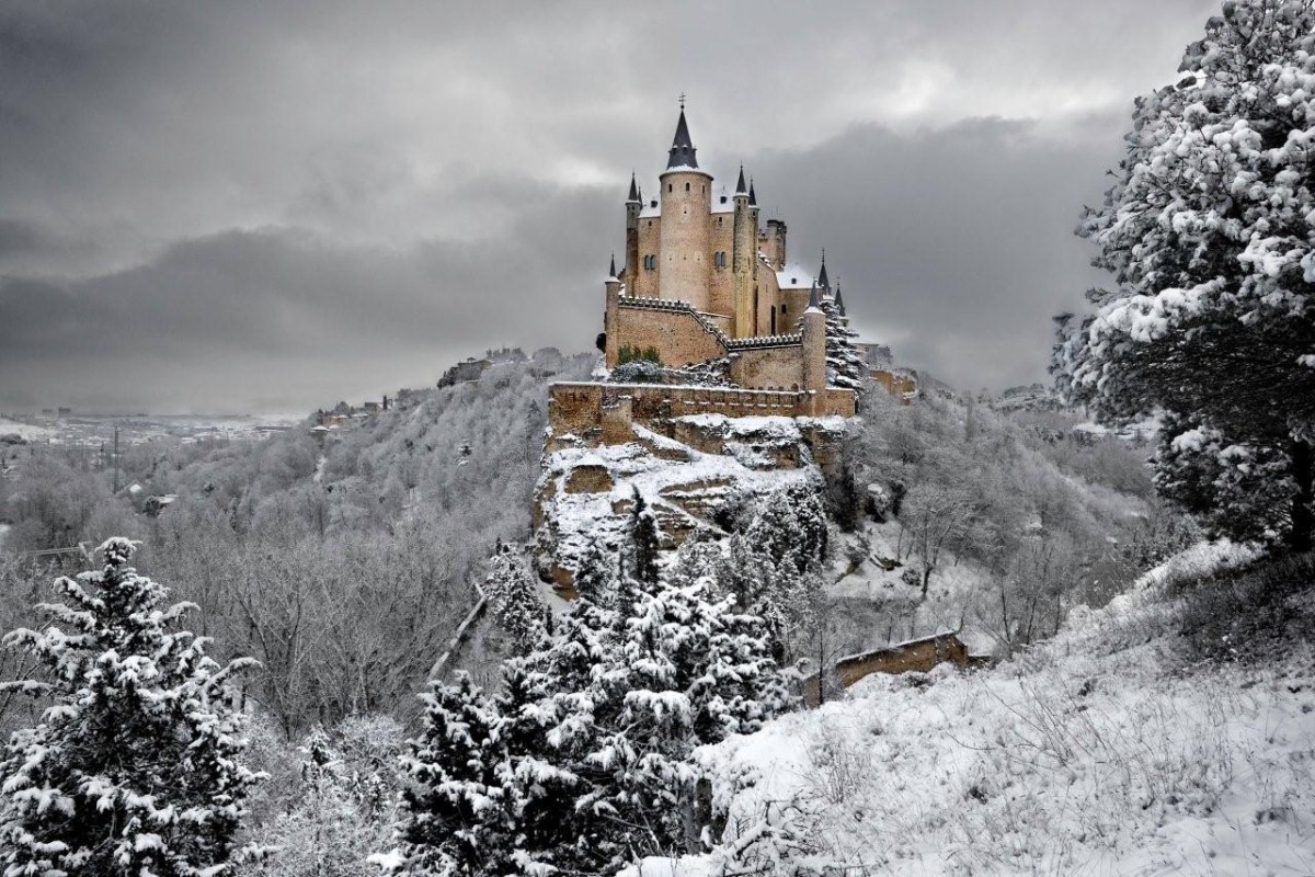
<path fill-rule="evenodd" d="M 647 202 L 630 179 L 626 263 L 618 272 L 613 259 L 605 281 L 600 342 L 608 367 L 618 366 L 623 351 L 656 352 L 667 368 L 725 360 L 736 388 L 773 394 L 740 396 L 736 410 L 852 415 L 853 392 L 827 387 L 819 305 L 834 302 L 843 314 L 844 304 L 839 287 L 831 289 L 825 256 L 817 277 L 786 260 L 785 222 L 761 227 L 743 167 L 735 193 L 714 201 L 713 175 L 698 167 L 684 107 L 658 179 L 658 197 Z M 715 408 L 707 398 L 704 410 Z"/>

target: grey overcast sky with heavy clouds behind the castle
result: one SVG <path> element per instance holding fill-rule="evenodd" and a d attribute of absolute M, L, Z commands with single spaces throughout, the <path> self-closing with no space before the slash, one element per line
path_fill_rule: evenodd
<path fill-rule="evenodd" d="M 1212 0 L 0 5 L 0 410 L 300 412 L 592 348 L 689 96 L 853 323 L 1044 379 L 1132 99 Z"/>

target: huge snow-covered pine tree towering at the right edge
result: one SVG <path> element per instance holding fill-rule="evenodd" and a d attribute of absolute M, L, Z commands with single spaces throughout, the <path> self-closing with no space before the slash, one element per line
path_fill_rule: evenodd
<path fill-rule="evenodd" d="M 1137 100 L 1115 184 L 1086 212 L 1080 234 L 1116 288 L 1089 292 L 1093 313 L 1061 321 L 1052 368 L 1106 422 L 1166 414 L 1157 480 L 1197 511 L 1219 510 L 1215 533 L 1270 533 L 1306 551 L 1315 7 L 1227 0 L 1180 71 Z M 1264 501 L 1237 489 L 1245 481 Z"/>

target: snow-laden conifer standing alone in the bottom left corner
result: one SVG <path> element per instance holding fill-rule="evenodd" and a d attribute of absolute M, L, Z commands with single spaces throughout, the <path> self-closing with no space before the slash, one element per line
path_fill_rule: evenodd
<path fill-rule="evenodd" d="M 206 640 L 175 630 L 191 604 L 129 565 L 109 539 L 100 572 L 59 579 L 53 623 L 16 630 L 41 681 L 5 688 L 49 698 L 37 727 L 14 732 L 0 764 L 4 873 L 201 877 L 231 873 L 233 838 L 259 778 L 241 761 L 241 722 Z"/>

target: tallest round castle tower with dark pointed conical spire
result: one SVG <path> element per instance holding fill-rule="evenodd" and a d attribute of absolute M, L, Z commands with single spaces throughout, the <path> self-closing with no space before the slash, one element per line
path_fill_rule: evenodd
<path fill-rule="evenodd" d="M 658 296 L 688 301 L 700 310 L 707 310 L 713 175 L 698 167 L 684 104 L 676 122 L 667 170 L 658 180 L 661 199 L 661 273 Z"/>

